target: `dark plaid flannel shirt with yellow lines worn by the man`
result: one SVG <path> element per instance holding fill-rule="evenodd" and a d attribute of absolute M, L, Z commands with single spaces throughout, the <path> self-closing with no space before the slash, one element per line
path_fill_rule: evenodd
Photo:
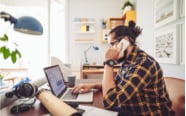
<path fill-rule="evenodd" d="M 115 76 L 115 88 L 104 96 L 107 109 L 128 115 L 172 116 L 171 101 L 159 64 L 135 46 Z M 118 111 L 120 111 L 118 110 Z"/>

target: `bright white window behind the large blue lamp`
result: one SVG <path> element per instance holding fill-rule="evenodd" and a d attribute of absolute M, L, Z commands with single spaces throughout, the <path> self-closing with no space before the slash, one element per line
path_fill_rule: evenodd
<path fill-rule="evenodd" d="M 37 2 L 36 2 L 37 3 Z M 48 2 L 43 0 L 42 5 L 10 5 L 0 4 L 0 11 L 10 13 L 19 18 L 33 16 L 43 25 L 44 33 L 41 36 L 27 35 L 13 30 L 13 25 L 0 19 L 0 36 L 5 33 L 9 37 L 8 46 L 14 49 L 14 43 L 22 54 L 22 58 L 13 64 L 11 59 L 4 60 L 0 54 L 0 68 L 28 68 L 31 78 L 40 76 L 43 67 L 48 65 Z M 0 43 L 2 45 L 2 43 Z"/>

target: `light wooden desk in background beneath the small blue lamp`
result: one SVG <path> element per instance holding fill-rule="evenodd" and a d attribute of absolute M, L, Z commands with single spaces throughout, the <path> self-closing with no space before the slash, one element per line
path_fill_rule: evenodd
<path fill-rule="evenodd" d="M 114 66 L 114 72 L 117 73 L 120 65 Z M 88 74 L 103 74 L 104 65 L 83 65 L 81 74 L 82 79 L 87 78 Z"/>

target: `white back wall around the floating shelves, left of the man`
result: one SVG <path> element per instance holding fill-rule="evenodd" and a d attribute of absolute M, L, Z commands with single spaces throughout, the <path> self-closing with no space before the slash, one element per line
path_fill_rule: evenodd
<path fill-rule="evenodd" d="M 101 19 L 111 16 L 120 17 L 122 4 L 123 0 L 69 0 L 69 62 L 73 71 L 80 71 L 80 65 L 84 63 L 83 51 L 93 45 L 92 43 L 77 44 L 73 41 L 78 36 L 73 33 L 74 18 L 85 17 L 96 20 L 96 33 L 92 34 L 92 37 L 95 39 L 94 44 L 99 46 L 100 50 L 98 52 L 90 50 L 87 56 L 90 63 L 102 64 L 108 44 L 102 44 L 99 41 Z"/>

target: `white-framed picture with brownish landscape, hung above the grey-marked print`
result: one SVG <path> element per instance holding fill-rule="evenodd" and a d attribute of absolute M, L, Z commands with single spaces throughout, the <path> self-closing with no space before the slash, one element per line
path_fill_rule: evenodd
<path fill-rule="evenodd" d="M 165 25 L 177 18 L 177 0 L 154 1 L 154 26 Z"/>

